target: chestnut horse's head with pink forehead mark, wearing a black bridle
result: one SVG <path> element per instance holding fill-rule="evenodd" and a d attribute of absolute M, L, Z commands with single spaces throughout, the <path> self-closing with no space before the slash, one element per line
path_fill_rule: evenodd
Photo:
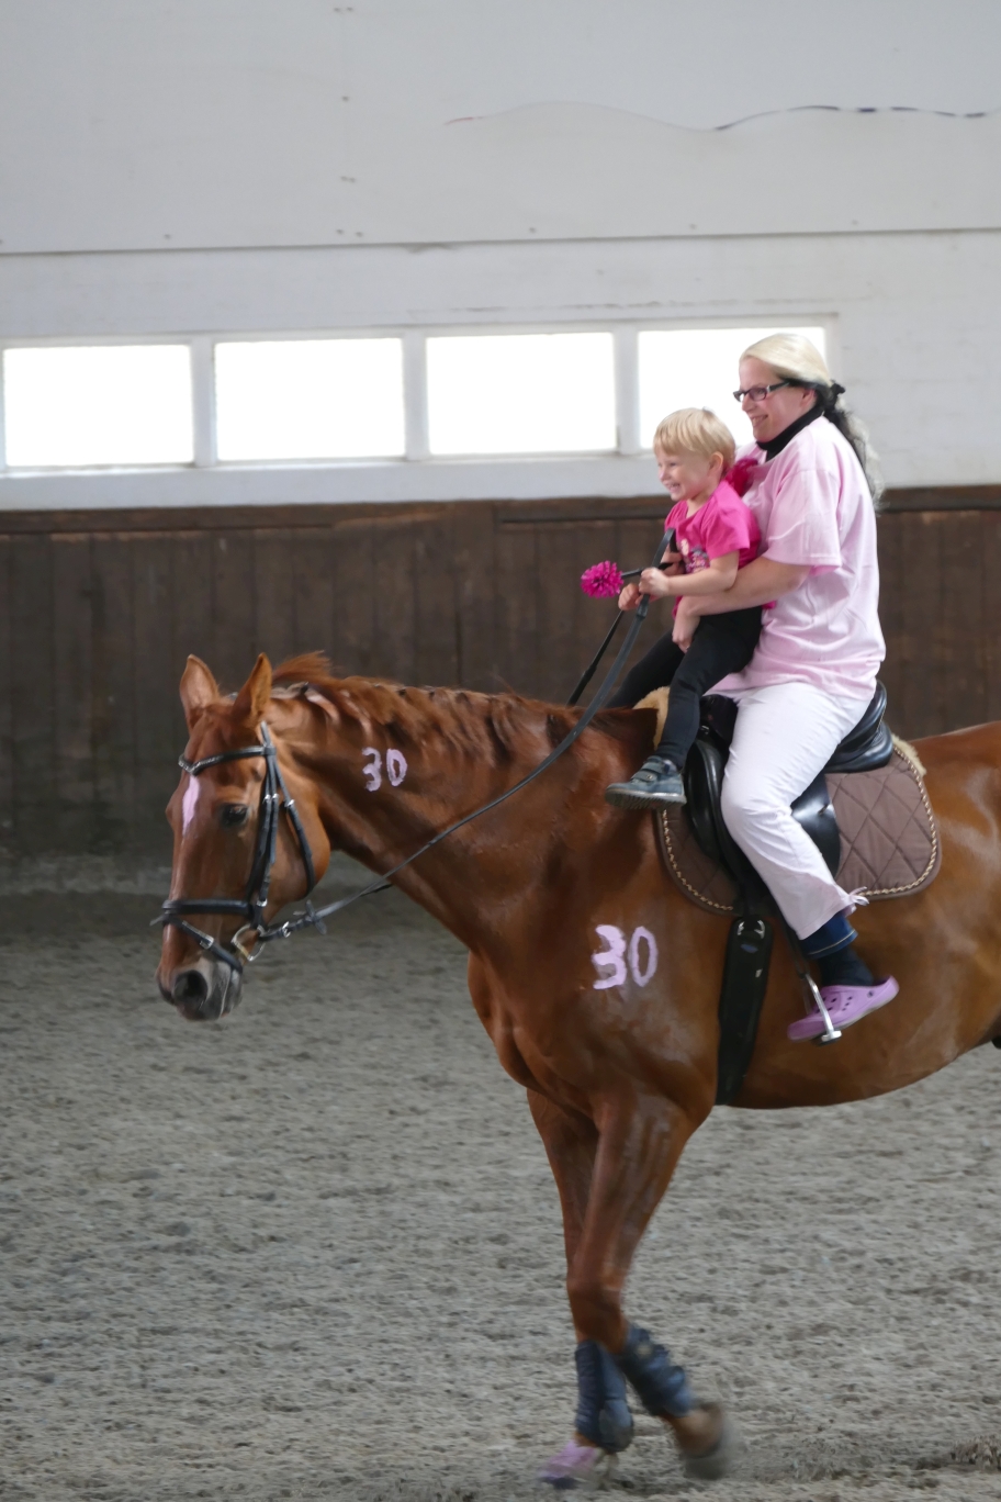
<path fill-rule="evenodd" d="M 312 786 L 282 745 L 290 706 L 272 700 L 266 656 L 236 698 L 191 656 L 180 698 L 189 739 L 167 805 L 174 864 L 156 981 L 182 1017 L 204 1021 L 237 1005 L 257 933 L 309 891 L 330 844 Z"/>

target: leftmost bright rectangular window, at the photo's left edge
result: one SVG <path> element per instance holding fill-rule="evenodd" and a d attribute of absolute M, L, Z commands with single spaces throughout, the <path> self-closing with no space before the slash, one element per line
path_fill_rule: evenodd
<path fill-rule="evenodd" d="M 191 464 L 186 344 L 3 351 L 8 464 Z"/>

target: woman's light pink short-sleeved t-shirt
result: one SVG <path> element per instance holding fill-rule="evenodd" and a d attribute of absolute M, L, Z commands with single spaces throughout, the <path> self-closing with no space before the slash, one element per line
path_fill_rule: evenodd
<path fill-rule="evenodd" d="M 843 698 L 872 697 L 885 656 L 876 517 L 851 445 L 818 418 L 773 460 L 756 445 L 744 455 L 758 461 L 744 502 L 761 527 L 761 556 L 809 563 L 810 572 L 765 608 L 750 662 L 714 692 L 813 683 Z"/>

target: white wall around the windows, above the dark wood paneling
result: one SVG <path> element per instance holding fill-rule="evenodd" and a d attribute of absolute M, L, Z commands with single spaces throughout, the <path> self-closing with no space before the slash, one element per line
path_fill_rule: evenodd
<path fill-rule="evenodd" d="M 999 44 L 996 0 L 5 0 L 0 339 L 824 317 L 891 484 L 998 482 Z M 647 490 L 621 457 L 0 506 Z"/>

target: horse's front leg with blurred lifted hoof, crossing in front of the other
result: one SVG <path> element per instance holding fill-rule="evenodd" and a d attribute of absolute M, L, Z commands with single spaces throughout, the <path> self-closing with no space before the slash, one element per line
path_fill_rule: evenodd
<path fill-rule="evenodd" d="M 674 1430 L 689 1473 L 710 1479 L 729 1460 L 722 1410 L 692 1395 L 683 1368 L 645 1329 L 630 1325 L 621 1307 L 639 1239 L 696 1126 L 696 1119 L 660 1095 L 630 1092 L 606 1102 L 567 1293 L 578 1337 L 606 1352 L 647 1412 Z"/>

